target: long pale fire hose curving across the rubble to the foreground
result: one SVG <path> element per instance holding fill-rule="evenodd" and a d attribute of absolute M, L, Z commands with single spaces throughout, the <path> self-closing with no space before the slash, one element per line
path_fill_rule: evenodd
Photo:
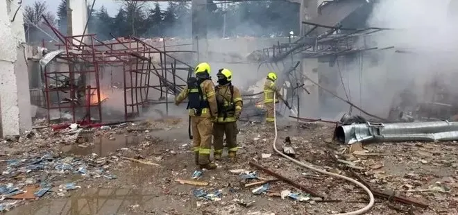
<path fill-rule="evenodd" d="M 275 101 L 275 92 L 273 93 L 273 101 Z M 374 205 L 374 196 L 373 196 L 373 193 L 366 187 L 364 186 L 364 184 L 362 184 L 361 182 L 358 182 L 357 180 L 354 180 L 353 178 L 348 178 L 344 175 L 339 175 L 339 174 L 336 174 L 336 173 L 330 173 L 330 172 L 327 172 L 327 171 L 324 171 L 324 170 L 321 170 L 321 169 L 316 169 L 314 166 L 312 166 L 312 164 L 305 164 L 304 162 L 300 162 L 292 157 L 289 157 L 288 155 L 285 155 L 284 153 L 280 152 L 280 150 L 277 149 L 277 147 L 275 146 L 275 143 L 277 142 L 277 137 L 278 137 L 278 132 L 277 132 L 277 117 L 276 117 L 276 114 L 275 114 L 275 105 L 273 105 L 273 125 L 274 125 L 274 129 L 275 129 L 275 137 L 273 138 L 273 150 L 275 150 L 276 153 L 278 153 L 279 155 L 282 155 L 282 157 L 285 157 L 287 158 L 288 160 L 291 160 L 291 162 L 294 162 L 295 164 L 298 164 L 299 166 L 303 166 L 307 169 L 311 169 L 312 171 L 316 171 L 316 172 L 319 172 L 319 173 L 322 173 L 322 174 L 325 174 L 325 175 L 330 175 L 330 176 L 333 176 L 333 177 L 336 177 L 336 178 L 341 178 L 343 180 L 347 180 L 349 182 L 352 182 L 353 184 L 356 184 L 357 187 L 361 187 L 362 189 L 364 189 L 364 191 L 366 191 L 366 193 L 368 194 L 369 196 L 369 203 L 368 205 L 366 205 L 366 207 L 363 207 L 362 209 L 358 209 L 354 212 L 348 212 L 348 213 L 343 213 L 343 214 L 337 214 L 337 215 L 359 215 L 359 214 L 364 214 L 366 212 L 368 212 L 369 209 L 371 209 L 371 207 Z"/>

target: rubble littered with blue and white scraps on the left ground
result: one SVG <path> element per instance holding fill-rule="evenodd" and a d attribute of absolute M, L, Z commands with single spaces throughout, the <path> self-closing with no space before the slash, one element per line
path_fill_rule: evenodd
<path fill-rule="evenodd" d="M 68 196 L 67 191 L 80 188 L 78 183 L 85 180 L 115 180 L 117 175 L 110 169 L 119 166 L 123 160 L 154 164 L 132 153 L 132 150 L 143 150 L 157 139 L 148 135 L 150 130 L 167 130 L 173 128 L 180 120 L 165 119 L 152 123 L 119 123 L 113 126 L 81 128 L 73 123 L 68 128 L 55 129 L 37 127 L 20 137 L 6 137 L 1 141 L 2 150 L 0 167 L 0 211 L 9 210 L 20 205 L 22 200 L 33 200 L 46 196 Z M 96 139 L 139 136 L 138 142 L 129 148 L 114 148 L 108 155 L 101 157 L 96 153 L 73 155 L 62 152 L 62 146 L 87 148 L 94 146 Z M 127 157 L 135 154 L 137 157 Z M 116 168 L 115 168 L 116 169 Z M 78 180 L 74 180 L 78 178 Z"/>

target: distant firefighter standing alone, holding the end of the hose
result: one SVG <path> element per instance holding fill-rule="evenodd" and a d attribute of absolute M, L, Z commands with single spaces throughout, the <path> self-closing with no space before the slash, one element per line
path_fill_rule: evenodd
<path fill-rule="evenodd" d="M 273 123 L 273 114 L 275 114 L 273 112 L 273 105 L 278 103 L 278 99 L 281 99 L 289 107 L 289 103 L 280 94 L 280 87 L 275 85 L 275 80 L 277 80 L 277 74 L 270 72 L 267 74 L 266 81 L 264 82 L 264 106 L 267 110 L 267 123 Z M 273 92 L 275 92 L 275 101 L 273 101 Z"/>

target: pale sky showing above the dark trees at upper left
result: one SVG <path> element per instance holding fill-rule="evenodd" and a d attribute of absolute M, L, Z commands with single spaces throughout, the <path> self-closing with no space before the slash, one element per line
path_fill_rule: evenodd
<path fill-rule="evenodd" d="M 49 10 L 53 12 L 54 14 L 56 14 L 57 8 L 61 0 L 43 0 L 43 1 L 46 1 L 46 3 L 48 4 Z M 93 0 L 87 0 L 87 4 L 92 5 L 92 1 Z M 35 0 L 23 0 L 23 2 L 26 3 L 26 5 L 32 5 L 33 2 L 35 2 Z M 149 6 L 149 8 L 153 8 L 154 2 L 150 2 L 146 4 L 147 6 Z M 167 2 L 160 2 L 160 4 L 161 6 L 164 6 L 164 5 L 167 5 Z M 121 6 L 121 4 L 117 0 L 96 0 L 94 9 L 99 10 L 101 6 L 105 6 L 105 8 L 107 8 L 108 14 L 110 14 L 110 16 L 113 17 L 114 15 L 116 15 L 116 12 L 118 8 Z"/>

